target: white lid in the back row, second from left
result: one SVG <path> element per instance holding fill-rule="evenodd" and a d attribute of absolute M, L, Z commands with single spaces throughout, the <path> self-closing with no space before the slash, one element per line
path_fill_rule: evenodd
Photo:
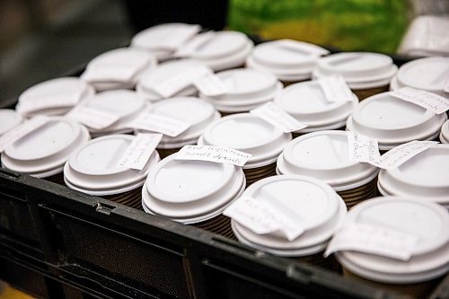
<path fill-rule="evenodd" d="M 203 36 L 209 38 L 204 39 Z M 202 60 L 231 56 L 244 49 L 248 42 L 248 37 L 238 31 L 205 32 L 190 40 L 186 47 L 195 45 L 189 57 Z"/>

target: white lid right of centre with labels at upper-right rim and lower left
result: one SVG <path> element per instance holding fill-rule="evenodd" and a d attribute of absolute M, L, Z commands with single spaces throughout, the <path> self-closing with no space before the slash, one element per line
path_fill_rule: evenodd
<path fill-rule="evenodd" d="M 328 101 L 320 84 L 310 81 L 287 86 L 277 94 L 275 102 L 308 126 L 299 132 L 308 133 L 345 127 L 358 99 L 354 94 L 353 101 Z"/>

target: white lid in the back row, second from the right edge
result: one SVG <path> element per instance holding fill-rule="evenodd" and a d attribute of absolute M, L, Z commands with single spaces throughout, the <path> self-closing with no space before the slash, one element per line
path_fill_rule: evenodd
<path fill-rule="evenodd" d="M 388 85 L 398 66 L 392 57 L 370 52 L 345 52 L 323 57 L 313 70 L 313 77 L 342 75 L 352 89 L 367 89 Z"/>

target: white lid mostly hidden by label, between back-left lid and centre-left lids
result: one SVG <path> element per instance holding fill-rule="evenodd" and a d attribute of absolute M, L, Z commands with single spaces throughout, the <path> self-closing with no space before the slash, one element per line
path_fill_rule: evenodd
<path fill-rule="evenodd" d="M 150 93 L 150 95 L 162 99 L 161 95 L 159 95 L 157 92 L 154 92 L 153 88 L 155 85 L 161 84 L 164 81 L 171 79 L 173 75 L 179 75 L 184 72 L 188 72 L 189 70 L 194 70 L 198 67 L 207 68 L 207 66 L 203 65 L 202 63 L 190 59 L 180 59 L 164 62 L 163 64 L 156 66 L 153 69 L 145 71 L 145 73 L 142 74 L 139 79 L 137 88 L 138 86 L 140 86 L 140 89 L 144 94 Z M 197 92 L 197 89 L 193 86 L 189 86 L 188 88 L 191 88 L 193 90 L 192 93 Z"/>

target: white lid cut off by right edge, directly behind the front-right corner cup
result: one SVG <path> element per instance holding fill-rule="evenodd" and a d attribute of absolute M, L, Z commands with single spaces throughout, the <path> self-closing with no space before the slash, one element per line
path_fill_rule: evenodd
<path fill-rule="evenodd" d="M 399 167 L 381 171 L 379 184 L 390 194 L 449 203 L 449 145 L 434 145 Z"/>

